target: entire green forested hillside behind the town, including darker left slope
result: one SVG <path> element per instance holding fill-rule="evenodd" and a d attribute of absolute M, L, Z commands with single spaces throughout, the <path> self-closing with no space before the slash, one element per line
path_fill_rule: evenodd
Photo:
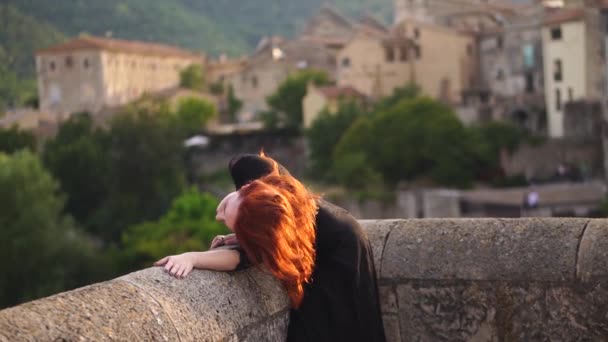
<path fill-rule="evenodd" d="M 393 0 L 2 0 L 0 112 L 35 93 L 34 51 L 81 33 L 162 42 L 211 55 L 293 36 L 323 3 L 390 21 Z"/>

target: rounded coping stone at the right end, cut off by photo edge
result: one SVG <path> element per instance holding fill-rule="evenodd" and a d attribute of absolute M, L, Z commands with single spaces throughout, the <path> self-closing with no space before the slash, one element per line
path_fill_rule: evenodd
<path fill-rule="evenodd" d="M 608 280 L 608 220 L 591 220 L 581 239 L 577 278 Z"/>

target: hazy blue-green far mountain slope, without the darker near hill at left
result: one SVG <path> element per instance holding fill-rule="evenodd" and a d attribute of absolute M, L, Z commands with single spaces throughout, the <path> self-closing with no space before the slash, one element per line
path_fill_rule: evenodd
<path fill-rule="evenodd" d="M 266 35 L 292 36 L 323 0 L 4 0 L 68 36 L 158 41 L 212 55 L 244 54 Z M 392 0 L 337 0 L 348 14 L 389 17 Z"/>

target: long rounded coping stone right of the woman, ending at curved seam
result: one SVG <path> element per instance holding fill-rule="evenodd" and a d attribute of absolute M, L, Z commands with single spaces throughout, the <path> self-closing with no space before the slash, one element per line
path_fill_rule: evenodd
<path fill-rule="evenodd" d="M 569 281 L 584 219 L 404 220 L 381 279 Z"/>

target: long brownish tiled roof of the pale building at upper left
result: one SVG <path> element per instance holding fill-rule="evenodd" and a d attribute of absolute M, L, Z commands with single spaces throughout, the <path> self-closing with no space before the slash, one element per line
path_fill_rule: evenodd
<path fill-rule="evenodd" d="M 202 56 L 190 51 L 170 45 L 100 37 L 75 38 L 62 44 L 38 50 L 37 54 L 48 55 L 78 50 L 104 50 L 160 57 L 202 58 Z"/>

